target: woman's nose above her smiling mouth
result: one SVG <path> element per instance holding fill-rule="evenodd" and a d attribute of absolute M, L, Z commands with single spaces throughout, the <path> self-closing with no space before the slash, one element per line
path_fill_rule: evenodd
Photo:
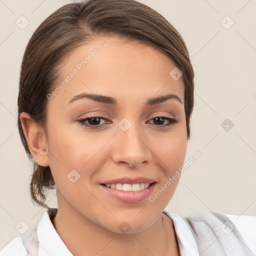
<path fill-rule="evenodd" d="M 131 125 L 126 131 L 117 127 L 112 149 L 112 160 L 116 164 L 138 168 L 152 159 L 149 140 L 145 133 L 142 133 L 144 132 L 139 129 L 138 125 Z"/>

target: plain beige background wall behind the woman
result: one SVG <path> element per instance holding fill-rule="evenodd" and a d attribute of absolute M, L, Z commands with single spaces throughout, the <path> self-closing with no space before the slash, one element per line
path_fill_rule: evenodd
<path fill-rule="evenodd" d="M 15 226 L 21 220 L 31 229 L 46 210 L 34 207 L 28 193 L 31 164 L 16 127 L 19 68 L 32 32 L 68 2 L 0 0 L 0 248 L 20 235 Z M 256 1 L 140 2 L 180 32 L 195 71 L 185 162 L 197 150 L 201 156 L 184 169 L 166 210 L 181 216 L 193 209 L 256 215 Z M 29 21 L 24 29 L 15 24 L 21 15 Z M 228 131 L 221 126 L 226 118 L 234 124 Z M 54 192 L 46 200 L 51 207 L 57 206 Z"/>

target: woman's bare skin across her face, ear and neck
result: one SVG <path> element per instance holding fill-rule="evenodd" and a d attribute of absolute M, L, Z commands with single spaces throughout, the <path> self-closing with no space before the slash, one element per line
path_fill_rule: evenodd
<path fill-rule="evenodd" d="M 85 251 L 100 256 L 164 255 L 166 230 L 168 255 L 179 255 L 172 220 L 162 211 L 180 176 L 154 202 L 148 198 L 137 203 L 119 201 L 104 192 L 100 183 L 144 176 L 157 182 L 153 195 L 182 165 L 187 146 L 182 77 L 174 80 L 169 75 L 175 64 L 156 48 L 112 36 L 75 48 L 65 58 L 58 82 L 94 48 L 98 53 L 48 100 L 46 130 L 29 114 L 20 115 L 33 158 L 39 165 L 50 166 L 56 183 L 54 227 L 74 255 L 85 255 Z M 118 104 L 89 98 L 68 103 L 83 92 L 114 97 Z M 147 98 L 169 93 L 182 103 L 167 99 L 143 107 Z M 89 129 L 77 122 L 88 115 L 105 118 L 98 121 L 103 126 Z M 164 127 L 167 119 L 153 119 L 164 115 L 178 122 Z M 131 123 L 126 131 L 118 126 L 123 118 Z M 93 125 L 93 121 L 86 123 Z M 80 175 L 74 183 L 67 178 L 72 169 Z M 118 228 L 123 221 L 130 225 L 127 233 Z"/>

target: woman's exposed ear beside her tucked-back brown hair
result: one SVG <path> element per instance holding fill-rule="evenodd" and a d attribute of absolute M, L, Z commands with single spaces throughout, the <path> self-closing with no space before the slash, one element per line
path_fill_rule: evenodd
<path fill-rule="evenodd" d="M 23 132 L 31 155 L 40 166 L 49 166 L 48 145 L 44 129 L 34 122 L 31 116 L 22 112 L 19 115 Z"/>

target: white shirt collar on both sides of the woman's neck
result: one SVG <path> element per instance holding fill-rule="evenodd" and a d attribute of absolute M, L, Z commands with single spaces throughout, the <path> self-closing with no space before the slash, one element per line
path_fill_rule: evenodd
<path fill-rule="evenodd" d="M 37 225 L 37 236 L 40 244 L 38 256 L 73 256 L 51 222 L 51 219 L 55 216 L 56 212 L 57 208 L 48 208 Z M 173 221 L 180 248 L 180 255 L 199 256 L 195 239 L 184 219 L 166 210 L 163 212 Z"/>

